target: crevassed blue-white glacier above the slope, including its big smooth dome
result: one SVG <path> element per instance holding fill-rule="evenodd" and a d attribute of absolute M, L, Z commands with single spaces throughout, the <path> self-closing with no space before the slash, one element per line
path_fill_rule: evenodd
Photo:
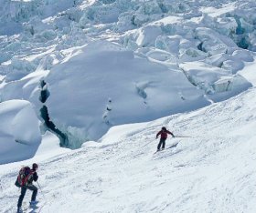
<path fill-rule="evenodd" d="M 256 50 L 254 0 L 0 5 L 0 99 L 31 102 L 61 146 L 252 86 L 243 69 Z"/>

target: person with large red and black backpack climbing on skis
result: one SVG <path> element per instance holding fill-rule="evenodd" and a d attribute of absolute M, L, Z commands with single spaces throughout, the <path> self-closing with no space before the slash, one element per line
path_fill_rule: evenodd
<path fill-rule="evenodd" d="M 16 178 L 16 187 L 21 188 L 21 194 L 18 198 L 17 202 L 17 213 L 21 213 L 22 209 L 22 201 L 25 197 L 25 194 L 27 192 L 27 189 L 33 191 L 30 207 L 33 207 L 37 204 L 36 198 L 37 198 L 37 187 L 34 186 L 32 183 L 33 181 L 37 181 L 37 168 L 38 165 L 34 163 L 32 165 L 32 168 L 30 167 L 22 167 L 19 171 L 18 177 Z"/>

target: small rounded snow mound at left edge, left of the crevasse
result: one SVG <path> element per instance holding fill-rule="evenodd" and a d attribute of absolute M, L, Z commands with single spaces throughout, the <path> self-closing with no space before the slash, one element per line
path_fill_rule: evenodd
<path fill-rule="evenodd" d="M 39 121 L 27 101 L 0 103 L 0 164 L 33 157 L 41 142 Z"/>

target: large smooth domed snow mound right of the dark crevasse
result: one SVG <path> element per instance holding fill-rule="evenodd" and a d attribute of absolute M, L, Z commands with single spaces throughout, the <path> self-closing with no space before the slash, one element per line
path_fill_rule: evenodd
<path fill-rule="evenodd" d="M 45 80 L 51 94 L 46 102 L 49 117 L 73 135 L 70 143 L 98 139 L 114 125 L 208 105 L 182 72 L 104 41 L 78 49 Z"/>

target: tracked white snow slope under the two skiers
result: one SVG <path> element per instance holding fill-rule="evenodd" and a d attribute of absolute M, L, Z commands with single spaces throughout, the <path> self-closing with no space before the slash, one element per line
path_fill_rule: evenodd
<path fill-rule="evenodd" d="M 41 212 L 255 212 L 255 96 L 253 87 L 197 111 L 112 127 L 101 143 L 23 162 L 39 164 Z M 176 138 L 154 154 L 163 126 Z M 16 210 L 20 164 L 0 166 L 1 212 Z"/>

